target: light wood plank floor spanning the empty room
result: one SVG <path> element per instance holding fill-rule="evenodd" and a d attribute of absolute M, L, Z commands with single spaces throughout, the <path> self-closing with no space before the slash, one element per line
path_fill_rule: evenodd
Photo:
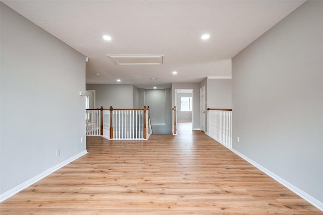
<path fill-rule="evenodd" d="M 323 214 L 202 133 L 87 138 L 88 154 L 0 204 L 3 214 Z"/>

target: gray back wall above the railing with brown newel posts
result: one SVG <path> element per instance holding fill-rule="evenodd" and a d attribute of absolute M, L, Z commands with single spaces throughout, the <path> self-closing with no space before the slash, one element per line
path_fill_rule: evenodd
<path fill-rule="evenodd" d="M 132 108 L 133 85 L 87 84 L 86 90 L 95 90 L 96 108 Z"/>

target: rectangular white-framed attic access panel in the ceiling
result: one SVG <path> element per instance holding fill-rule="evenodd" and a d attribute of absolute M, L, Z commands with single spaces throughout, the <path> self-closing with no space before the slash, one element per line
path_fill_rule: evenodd
<path fill-rule="evenodd" d="M 161 54 L 106 54 L 118 65 L 164 65 Z"/>

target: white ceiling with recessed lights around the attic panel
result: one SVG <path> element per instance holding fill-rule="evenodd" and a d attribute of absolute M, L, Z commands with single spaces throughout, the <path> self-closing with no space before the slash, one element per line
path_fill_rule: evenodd
<path fill-rule="evenodd" d="M 2 2 L 88 56 L 87 84 L 151 89 L 231 76 L 231 58 L 305 1 Z M 165 55 L 165 64 L 118 65 L 106 54 Z"/>

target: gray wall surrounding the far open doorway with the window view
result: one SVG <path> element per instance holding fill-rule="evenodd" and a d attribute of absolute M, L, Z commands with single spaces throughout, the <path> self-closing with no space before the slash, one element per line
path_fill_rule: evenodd
<path fill-rule="evenodd" d="M 172 107 L 175 106 L 175 89 L 193 89 L 193 129 L 200 129 L 200 83 L 172 83 Z"/>

